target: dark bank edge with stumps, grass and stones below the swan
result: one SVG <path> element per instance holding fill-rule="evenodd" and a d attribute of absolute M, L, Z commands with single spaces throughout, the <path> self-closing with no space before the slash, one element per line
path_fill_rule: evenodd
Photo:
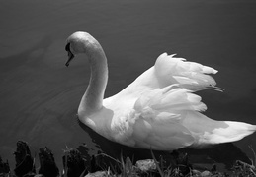
<path fill-rule="evenodd" d="M 252 152 L 254 153 L 253 148 Z M 255 160 L 252 164 L 236 160 L 227 172 L 218 172 L 217 165 L 211 168 L 197 168 L 190 163 L 188 154 L 174 151 L 172 160 L 166 160 L 162 156 L 156 159 L 151 150 L 152 159 L 132 161 L 130 157 L 115 159 L 105 153 L 99 152 L 92 155 L 90 159 L 85 158 L 75 148 L 66 148 L 62 157 L 63 171 L 57 167 L 54 156 L 49 148 L 40 148 L 40 167 L 35 164 L 36 156 L 31 155 L 30 148 L 26 142 L 18 141 L 14 152 L 16 165 L 11 170 L 8 161 L 4 162 L 0 157 L 0 177 L 83 177 L 83 176 L 160 176 L 160 177 L 204 177 L 204 176 L 256 176 Z M 255 155 L 255 153 L 254 153 Z M 256 158 L 256 156 L 255 156 Z"/>

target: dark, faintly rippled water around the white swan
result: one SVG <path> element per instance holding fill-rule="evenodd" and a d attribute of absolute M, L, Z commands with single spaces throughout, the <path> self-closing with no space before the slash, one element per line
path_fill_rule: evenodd
<path fill-rule="evenodd" d="M 256 1 L 0 1 L 0 154 L 14 165 L 18 140 L 47 146 L 60 165 L 65 146 L 101 141 L 77 123 L 87 61 L 64 63 L 66 37 L 85 30 L 103 45 L 106 97 L 124 89 L 163 52 L 210 65 L 225 92 L 204 91 L 206 115 L 256 124 Z M 249 156 L 256 134 L 235 143 Z M 112 149 L 111 144 L 105 148 Z M 109 146 L 109 147 L 108 147 Z"/>

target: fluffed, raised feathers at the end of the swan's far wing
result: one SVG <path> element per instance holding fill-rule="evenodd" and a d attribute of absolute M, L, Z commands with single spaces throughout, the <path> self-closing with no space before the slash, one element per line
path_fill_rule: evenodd
<path fill-rule="evenodd" d="M 191 90 L 221 90 L 214 87 L 216 83 L 209 75 L 217 73 L 215 69 L 174 56 L 163 53 L 155 62 L 155 75 L 161 88 L 180 84 L 181 87 Z"/>

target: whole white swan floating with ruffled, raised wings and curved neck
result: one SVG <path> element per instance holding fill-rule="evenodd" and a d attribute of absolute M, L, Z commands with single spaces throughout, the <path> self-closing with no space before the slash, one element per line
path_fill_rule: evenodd
<path fill-rule="evenodd" d="M 100 43 L 77 31 L 67 38 L 66 66 L 85 54 L 91 77 L 78 107 L 79 120 L 101 136 L 132 148 L 174 150 L 204 148 L 234 142 L 252 134 L 255 125 L 216 121 L 202 114 L 207 106 L 195 94 L 202 89 L 222 89 L 209 74 L 211 67 L 161 54 L 154 66 L 126 89 L 105 98 L 108 64 Z"/>

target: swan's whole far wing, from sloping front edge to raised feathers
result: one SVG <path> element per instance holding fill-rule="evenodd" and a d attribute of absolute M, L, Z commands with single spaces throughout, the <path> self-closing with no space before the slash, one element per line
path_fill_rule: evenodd
<path fill-rule="evenodd" d="M 222 91 L 223 89 L 215 87 L 215 80 L 210 76 L 215 73 L 217 71 L 211 67 L 163 53 L 157 58 L 154 66 L 137 77 L 119 95 L 123 97 L 131 93 L 133 97 L 138 98 L 141 93 L 148 90 L 163 89 L 174 84 L 193 91 L 202 89 Z"/>

